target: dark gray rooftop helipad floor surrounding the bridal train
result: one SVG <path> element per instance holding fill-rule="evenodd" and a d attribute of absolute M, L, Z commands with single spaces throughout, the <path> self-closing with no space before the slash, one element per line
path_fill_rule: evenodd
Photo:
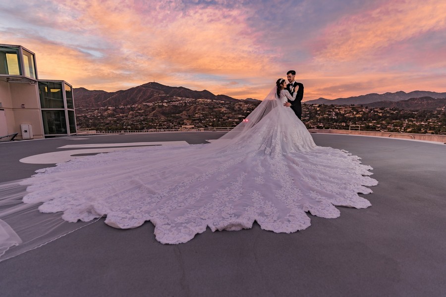
<path fill-rule="evenodd" d="M 21 163 L 81 144 L 186 141 L 223 132 L 85 136 L 0 144 L 0 182 L 52 164 Z M 162 245 L 154 226 L 118 230 L 101 221 L 0 262 L 8 296 L 446 296 L 446 145 L 312 134 L 374 167 L 367 209 L 311 216 L 312 226 L 275 234 L 207 230 Z M 39 157 L 35 158 L 39 159 Z"/>

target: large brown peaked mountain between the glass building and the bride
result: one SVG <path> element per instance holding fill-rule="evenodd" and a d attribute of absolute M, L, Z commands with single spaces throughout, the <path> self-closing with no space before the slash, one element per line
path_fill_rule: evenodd
<path fill-rule="evenodd" d="M 124 91 L 106 92 L 90 91 L 85 88 L 73 89 L 75 107 L 107 107 L 119 105 L 133 105 L 157 102 L 174 97 L 190 99 L 211 99 L 225 102 L 240 102 L 244 100 L 231 98 L 226 95 L 214 95 L 207 90 L 193 91 L 184 87 L 169 87 L 150 82 Z M 259 101 L 248 98 L 247 101 Z"/>

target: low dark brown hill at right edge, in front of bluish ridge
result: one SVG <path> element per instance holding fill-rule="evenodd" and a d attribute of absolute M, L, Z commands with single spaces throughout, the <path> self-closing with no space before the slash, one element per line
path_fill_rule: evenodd
<path fill-rule="evenodd" d="M 434 110 L 437 108 L 446 107 L 446 98 L 438 99 L 432 97 L 411 98 L 407 100 L 392 101 L 377 101 L 367 103 L 368 107 L 385 107 L 398 109 L 415 109 L 415 110 Z"/>

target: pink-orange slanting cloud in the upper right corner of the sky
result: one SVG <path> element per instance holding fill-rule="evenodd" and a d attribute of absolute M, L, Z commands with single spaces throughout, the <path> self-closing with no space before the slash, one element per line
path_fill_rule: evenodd
<path fill-rule="evenodd" d="M 328 24 L 318 60 L 371 58 L 398 42 L 446 28 L 444 0 L 391 1 Z"/>

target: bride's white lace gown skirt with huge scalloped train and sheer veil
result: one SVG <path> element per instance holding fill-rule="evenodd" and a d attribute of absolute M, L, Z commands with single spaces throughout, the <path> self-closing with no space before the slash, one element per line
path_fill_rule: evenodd
<path fill-rule="evenodd" d="M 10 247 L 5 256 L 14 256 L 101 217 L 122 229 L 151 221 L 159 242 L 180 244 L 208 227 L 240 230 L 257 221 L 291 233 L 310 226 L 306 212 L 336 218 L 335 206 L 370 206 L 358 193 L 378 184 L 372 168 L 345 150 L 316 146 L 283 106 L 287 91 L 276 91 L 211 144 L 86 156 L 0 185 L 0 252 Z"/>

